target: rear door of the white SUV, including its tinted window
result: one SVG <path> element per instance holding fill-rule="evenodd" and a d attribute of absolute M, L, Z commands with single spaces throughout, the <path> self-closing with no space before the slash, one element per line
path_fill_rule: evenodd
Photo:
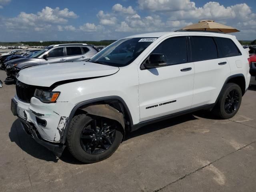
<path fill-rule="evenodd" d="M 195 66 L 192 108 L 213 104 L 230 76 L 228 60 L 221 58 L 213 36 L 190 36 L 190 44 Z"/>

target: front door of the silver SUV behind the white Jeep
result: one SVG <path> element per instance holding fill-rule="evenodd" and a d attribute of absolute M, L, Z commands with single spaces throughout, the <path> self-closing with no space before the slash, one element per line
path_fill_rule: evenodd
<path fill-rule="evenodd" d="M 40 64 L 66 62 L 66 56 L 64 54 L 64 47 L 54 48 L 48 52 L 48 55 L 49 55 L 49 57 L 47 59 L 44 59 L 44 58 L 40 59 Z"/>

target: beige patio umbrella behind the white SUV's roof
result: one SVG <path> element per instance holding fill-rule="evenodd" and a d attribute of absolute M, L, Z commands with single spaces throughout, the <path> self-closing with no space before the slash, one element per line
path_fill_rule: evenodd
<path fill-rule="evenodd" d="M 196 24 L 186 26 L 182 28 L 182 30 L 214 31 L 223 33 L 239 32 L 236 28 L 216 23 L 213 20 L 202 20 Z"/>

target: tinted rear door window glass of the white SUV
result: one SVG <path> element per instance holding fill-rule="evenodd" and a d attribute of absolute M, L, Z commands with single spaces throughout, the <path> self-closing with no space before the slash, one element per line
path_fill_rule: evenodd
<path fill-rule="evenodd" d="M 217 46 L 212 37 L 190 37 L 193 61 L 218 58 Z"/>

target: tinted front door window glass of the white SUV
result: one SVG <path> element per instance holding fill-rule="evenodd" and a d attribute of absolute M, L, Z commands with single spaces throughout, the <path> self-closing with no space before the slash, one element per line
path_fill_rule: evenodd
<path fill-rule="evenodd" d="M 186 37 L 167 39 L 152 53 L 166 55 L 168 65 L 185 63 L 188 61 Z"/>

